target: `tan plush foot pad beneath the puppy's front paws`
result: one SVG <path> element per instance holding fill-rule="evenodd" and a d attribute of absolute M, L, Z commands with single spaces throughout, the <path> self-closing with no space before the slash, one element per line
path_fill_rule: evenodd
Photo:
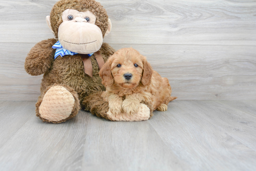
<path fill-rule="evenodd" d="M 147 105 L 141 103 L 138 113 L 134 115 L 127 116 L 127 114 L 123 112 L 118 115 L 114 115 L 110 111 L 107 112 L 107 115 L 109 115 L 109 117 L 114 121 L 144 121 L 149 119 L 150 110 Z"/>

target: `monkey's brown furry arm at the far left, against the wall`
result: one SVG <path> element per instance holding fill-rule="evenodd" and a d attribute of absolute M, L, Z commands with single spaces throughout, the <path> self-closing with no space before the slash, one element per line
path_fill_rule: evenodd
<path fill-rule="evenodd" d="M 31 48 L 25 59 L 25 70 L 30 75 L 44 74 L 54 60 L 55 49 L 52 46 L 57 42 L 57 39 L 46 39 L 38 42 Z"/>

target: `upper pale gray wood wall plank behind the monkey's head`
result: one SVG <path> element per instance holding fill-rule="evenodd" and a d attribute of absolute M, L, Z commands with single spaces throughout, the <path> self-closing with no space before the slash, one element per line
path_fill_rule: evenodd
<path fill-rule="evenodd" d="M 115 44 L 256 45 L 256 1 L 98 0 Z M 0 42 L 53 37 L 45 17 L 56 0 L 0 1 Z"/>

